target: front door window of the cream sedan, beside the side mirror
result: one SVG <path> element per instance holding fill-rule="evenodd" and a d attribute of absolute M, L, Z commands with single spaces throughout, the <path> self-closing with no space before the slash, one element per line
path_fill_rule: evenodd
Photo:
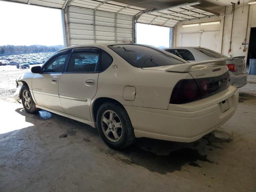
<path fill-rule="evenodd" d="M 63 72 L 67 57 L 68 57 L 68 54 L 56 56 L 55 58 L 50 60 L 48 64 L 46 64 L 46 67 L 43 68 L 42 72 L 46 72 L 46 73 Z"/>

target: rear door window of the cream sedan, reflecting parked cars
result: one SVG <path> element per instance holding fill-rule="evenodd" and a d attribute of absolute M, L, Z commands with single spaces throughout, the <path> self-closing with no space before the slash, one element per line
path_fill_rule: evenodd
<path fill-rule="evenodd" d="M 71 54 L 67 72 L 97 72 L 99 53 L 92 51 Z"/>

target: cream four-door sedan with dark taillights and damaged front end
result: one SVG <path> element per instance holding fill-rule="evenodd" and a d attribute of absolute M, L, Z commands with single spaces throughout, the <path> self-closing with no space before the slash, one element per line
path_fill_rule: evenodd
<path fill-rule="evenodd" d="M 90 62 L 88 62 L 90 60 Z M 18 77 L 14 98 L 97 127 L 112 148 L 137 137 L 193 142 L 236 111 L 224 60 L 188 63 L 139 44 L 88 44 L 53 54 Z"/>

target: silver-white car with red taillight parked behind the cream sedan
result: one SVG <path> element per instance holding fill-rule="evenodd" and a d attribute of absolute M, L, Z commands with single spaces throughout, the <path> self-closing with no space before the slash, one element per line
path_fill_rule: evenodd
<path fill-rule="evenodd" d="M 164 50 L 187 60 L 188 62 L 198 62 L 207 60 L 226 60 L 226 66 L 230 71 L 230 84 L 237 88 L 247 84 L 247 73 L 245 70 L 245 56 L 227 57 L 216 51 L 202 47 L 172 47 Z"/>

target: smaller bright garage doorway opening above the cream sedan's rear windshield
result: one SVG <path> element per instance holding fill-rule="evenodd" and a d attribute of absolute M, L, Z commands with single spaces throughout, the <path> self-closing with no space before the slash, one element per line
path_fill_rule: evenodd
<path fill-rule="evenodd" d="M 136 43 L 167 48 L 172 46 L 172 28 L 136 24 Z"/>

